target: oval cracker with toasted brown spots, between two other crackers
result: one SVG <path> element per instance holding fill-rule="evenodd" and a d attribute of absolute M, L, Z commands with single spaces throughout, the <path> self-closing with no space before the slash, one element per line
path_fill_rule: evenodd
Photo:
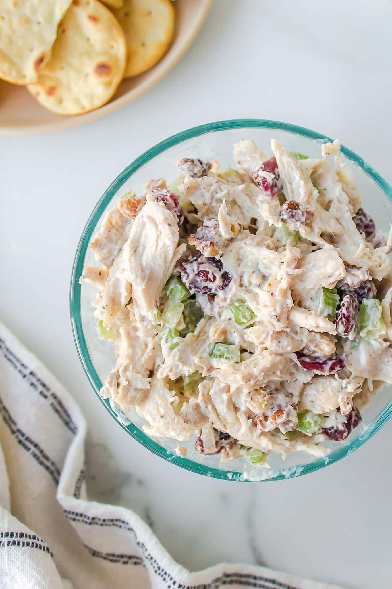
<path fill-rule="evenodd" d="M 28 91 L 59 114 L 80 114 L 113 96 L 126 64 L 126 40 L 108 8 L 98 0 L 73 0 L 59 24 L 52 59 Z"/>

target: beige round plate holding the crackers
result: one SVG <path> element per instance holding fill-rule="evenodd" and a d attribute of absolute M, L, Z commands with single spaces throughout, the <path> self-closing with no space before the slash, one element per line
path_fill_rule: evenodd
<path fill-rule="evenodd" d="M 176 0 L 176 30 L 163 58 L 151 70 L 119 85 L 108 104 L 86 114 L 66 117 L 43 108 L 23 86 L 0 80 L 0 134 L 32 135 L 77 127 L 105 117 L 150 90 L 182 58 L 195 39 L 212 0 Z"/>

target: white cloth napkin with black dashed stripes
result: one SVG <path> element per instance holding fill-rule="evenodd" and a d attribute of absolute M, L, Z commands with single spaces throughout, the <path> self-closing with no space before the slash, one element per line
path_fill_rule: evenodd
<path fill-rule="evenodd" d="M 190 573 L 138 515 L 89 501 L 85 419 L 1 323 L 0 415 L 2 589 L 339 589 L 247 564 Z"/>

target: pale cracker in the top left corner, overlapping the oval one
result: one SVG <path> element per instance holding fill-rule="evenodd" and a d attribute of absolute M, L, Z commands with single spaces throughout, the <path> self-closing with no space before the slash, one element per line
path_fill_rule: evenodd
<path fill-rule="evenodd" d="M 22 85 L 37 81 L 70 4 L 71 0 L 0 1 L 0 78 Z"/>

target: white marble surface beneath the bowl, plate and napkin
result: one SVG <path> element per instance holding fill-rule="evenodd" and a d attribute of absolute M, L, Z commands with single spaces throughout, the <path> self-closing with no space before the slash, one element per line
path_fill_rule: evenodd
<path fill-rule="evenodd" d="M 0 138 L 0 317 L 85 412 L 91 497 L 135 509 L 190 569 L 260 562 L 391 587 L 392 422 L 344 461 L 290 481 L 234 484 L 163 462 L 116 426 L 76 355 L 68 290 L 79 236 L 133 158 L 224 118 L 339 137 L 391 182 L 391 23 L 387 0 L 215 0 L 185 58 L 142 99 L 71 131 Z"/>

